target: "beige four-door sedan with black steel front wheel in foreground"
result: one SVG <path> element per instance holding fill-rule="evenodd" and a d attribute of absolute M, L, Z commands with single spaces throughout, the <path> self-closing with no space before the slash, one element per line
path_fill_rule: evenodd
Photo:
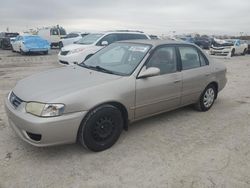
<path fill-rule="evenodd" d="M 26 142 L 111 147 L 136 120 L 194 104 L 209 110 L 226 68 L 189 43 L 113 43 L 79 65 L 35 74 L 5 100 L 9 124 Z"/>

